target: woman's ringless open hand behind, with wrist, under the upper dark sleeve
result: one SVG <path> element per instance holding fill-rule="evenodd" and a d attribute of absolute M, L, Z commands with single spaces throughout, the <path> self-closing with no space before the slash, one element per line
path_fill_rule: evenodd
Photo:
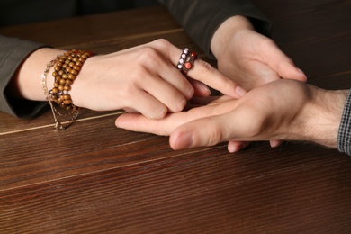
<path fill-rule="evenodd" d="M 307 79 L 273 40 L 254 31 L 243 16 L 220 25 L 212 37 L 211 51 L 220 72 L 247 91 L 281 78 Z"/>

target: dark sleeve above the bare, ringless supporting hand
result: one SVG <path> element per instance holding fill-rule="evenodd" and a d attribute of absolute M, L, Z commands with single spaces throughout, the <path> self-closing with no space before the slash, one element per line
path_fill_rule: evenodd
<path fill-rule="evenodd" d="M 192 40 L 211 55 L 211 39 L 220 24 L 234 15 L 246 16 L 256 31 L 270 36 L 272 23 L 247 0 L 159 0 Z"/>

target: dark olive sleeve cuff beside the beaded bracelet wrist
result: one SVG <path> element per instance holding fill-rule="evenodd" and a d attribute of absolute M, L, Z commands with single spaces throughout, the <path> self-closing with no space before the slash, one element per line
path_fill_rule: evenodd
<path fill-rule="evenodd" d="M 13 97 L 7 85 L 14 77 L 18 67 L 31 52 L 46 47 L 35 43 L 16 38 L 8 38 L 0 35 L 0 111 L 7 112 L 19 118 L 35 115 L 43 106 L 43 102 L 32 102 L 19 100 Z M 45 67 L 42 67 L 43 70 Z M 37 78 L 41 82 L 40 77 Z"/>

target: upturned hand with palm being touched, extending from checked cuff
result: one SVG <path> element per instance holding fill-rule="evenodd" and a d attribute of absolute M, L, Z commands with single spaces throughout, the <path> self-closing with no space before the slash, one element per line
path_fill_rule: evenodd
<path fill-rule="evenodd" d="M 122 114 L 116 126 L 170 135 L 174 149 L 229 141 L 229 151 L 235 152 L 239 148 L 231 141 L 270 139 L 310 140 L 336 148 L 346 95 L 299 81 L 277 80 L 253 89 L 239 100 L 222 96 L 188 112 L 169 113 L 162 120 Z"/>

